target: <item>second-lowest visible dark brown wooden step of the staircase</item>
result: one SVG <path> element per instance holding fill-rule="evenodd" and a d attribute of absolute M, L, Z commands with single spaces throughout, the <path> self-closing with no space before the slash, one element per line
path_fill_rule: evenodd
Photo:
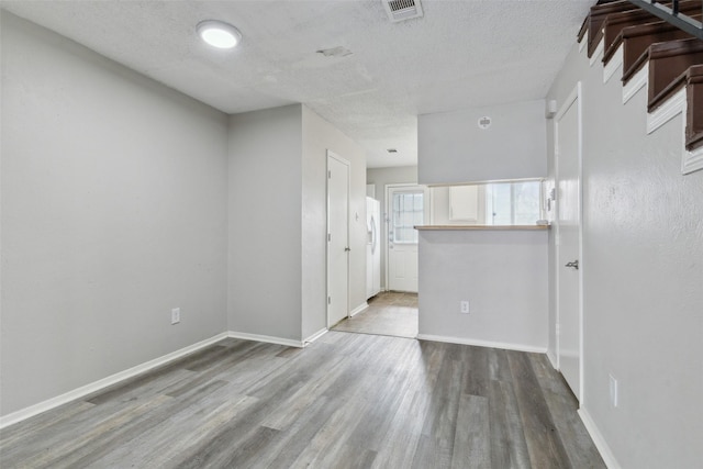
<path fill-rule="evenodd" d="M 688 38 L 655 43 L 649 46 L 648 58 L 647 110 L 651 112 L 685 85 L 680 82 L 682 74 L 694 65 L 703 64 L 703 41 Z"/>

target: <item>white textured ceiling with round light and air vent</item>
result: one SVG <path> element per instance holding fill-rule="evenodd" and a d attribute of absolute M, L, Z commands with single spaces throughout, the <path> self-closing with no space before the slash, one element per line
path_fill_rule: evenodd
<path fill-rule="evenodd" d="M 594 3 L 422 0 L 423 18 L 391 23 L 381 0 L 1 2 L 226 113 L 304 103 L 369 167 L 416 164 L 419 114 L 544 98 Z M 202 44 L 208 19 L 241 46 Z M 316 53 L 337 46 L 353 54 Z"/>

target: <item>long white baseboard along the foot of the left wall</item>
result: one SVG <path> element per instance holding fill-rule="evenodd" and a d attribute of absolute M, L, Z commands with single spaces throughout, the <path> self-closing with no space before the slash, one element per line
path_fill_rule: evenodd
<path fill-rule="evenodd" d="M 197 344 L 189 345 L 188 347 L 183 347 L 179 350 L 137 365 L 136 367 L 129 368 L 124 371 L 120 371 L 107 378 L 93 381 L 89 384 L 81 386 L 80 388 L 57 395 L 56 398 L 47 399 L 46 401 L 40 402 L 38 404 L 30 405 L 29 407 L 21 409 L 8 415 L 0 416 L 0 428 L 4 428 L 5 426 L 15 424 L 18 422 L 22 422 L 23 420 L 41 414 L 42 412 L 46 412 L 59 405 L 67 404 L 70 401 L 75 401 L 76 399 L 80 399 L 96 391 L 100 391 L 101 389 L 104 389 L 112 384 L 116 384 L 118 382 L 124 381 L 125 379 L 133 378 L 145 371 L 149 371 L 154 368 L 166 365 L 188 354 L 192 354 L 193 351 L 198 351 L 201 348 L 208 347 L 209 345 L 215 344 L 226 337 L 227 333 L 217 334 Z"/>

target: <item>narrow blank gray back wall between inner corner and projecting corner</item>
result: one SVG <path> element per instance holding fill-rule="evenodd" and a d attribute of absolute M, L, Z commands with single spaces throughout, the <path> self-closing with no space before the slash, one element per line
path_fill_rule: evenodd
<path fill-rule="evenodd" d="M 301 339 L 302 107 L 230 118 L 230 331 Z"/>

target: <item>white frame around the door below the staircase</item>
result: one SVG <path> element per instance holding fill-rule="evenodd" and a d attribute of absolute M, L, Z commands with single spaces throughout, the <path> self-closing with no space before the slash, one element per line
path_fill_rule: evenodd
<path fill-rule="evenodd" d="M 579 234 L 579 275 L 578 275 L 578 286 L 579 286 L 579 299 L 578 299 L 578 324 L 579 324 L 579 406 L 583 406 L 585 402 L 585 395 L 583 393 L 584 384 L 583 384 L 583 91 L 582 83 L 579 81 L 576 88 L 571 91 L 569 97 L 565 100 L 563 104 L 557 112 L 554 119 L 554 145 L 555 145 L 555 190 L 559 189 L 559 120 L 563 118 L 563 115 L 571 109 L 572 105 L 577 105 L 577 120 L 578 120 L 578 152 L 577 152 L 577 172 L 578 172 L 578 191 L 579 191 L 579 204 L 578 204 L 578 234 Z M 556 353 L 557 353 L 557 369 L 561 369 L 561 311 L 559 306 L 559 289 L 560 289 L 560 278 L 561 278 L 561 267 L 565 263 L 565 259 L 561 255 L 561 233 L 559 226 L 559 211 L 561 210 L 560 200 L 557 200 L 556 204 L 556 213 L 555 213 L 555 310 L 556 310 Z"/>

